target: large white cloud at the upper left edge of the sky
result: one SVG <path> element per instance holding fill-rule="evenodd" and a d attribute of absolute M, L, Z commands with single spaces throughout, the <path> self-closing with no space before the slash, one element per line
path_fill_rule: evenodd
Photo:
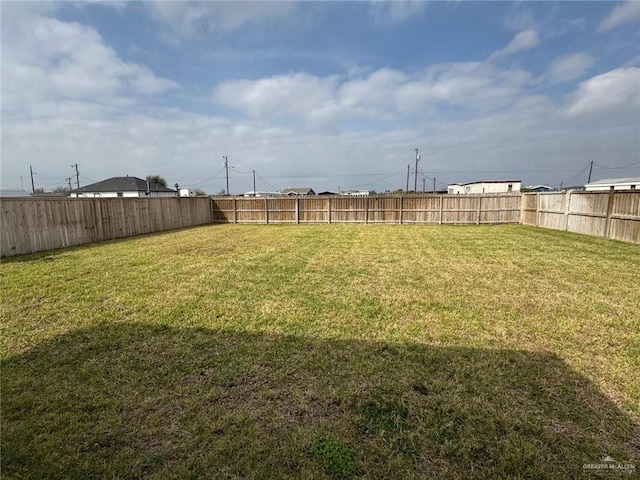
<path fill-rule="evenodd" d="M 114 106 L 136 96 L 175 88 L 143 65 L 125 62 L 100 34 L 80 23 L 23 16 L 3 38 L 5 114 L 47 109 L 46 105 L 83 100 Z"/>

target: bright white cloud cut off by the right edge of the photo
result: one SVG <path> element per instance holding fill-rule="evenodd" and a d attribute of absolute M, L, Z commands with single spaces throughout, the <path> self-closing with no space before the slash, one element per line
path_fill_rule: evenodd
<path fill-rule="evenodd" d="M 640 111 L 640 68 L 619 68 L 582 82 L 565 112 L 577 116 L 614 109 Z"/>

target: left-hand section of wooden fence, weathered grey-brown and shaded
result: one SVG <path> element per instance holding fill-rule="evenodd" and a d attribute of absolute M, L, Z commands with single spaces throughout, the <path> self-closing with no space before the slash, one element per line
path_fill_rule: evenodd
<path fill-rule="evenodd" d="M 211 223 L 197 198 L 3 198 L 2 256 Z"/>

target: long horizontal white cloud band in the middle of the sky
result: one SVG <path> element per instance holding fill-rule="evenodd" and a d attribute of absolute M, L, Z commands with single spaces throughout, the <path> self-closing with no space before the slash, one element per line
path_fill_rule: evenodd
<path fill-rule="evenodd" d="M 398 121 L 449 107 L 495 111 L 512 103 L 531 82 L 523 70 L 467 62 L 413 74 L 383 68 L 355 78 L 296 73 L 228 81 L 214 89 L 213 100 L 252 118 L 277 121 L 293 115 L 326 129 L 355 118 Z"/>

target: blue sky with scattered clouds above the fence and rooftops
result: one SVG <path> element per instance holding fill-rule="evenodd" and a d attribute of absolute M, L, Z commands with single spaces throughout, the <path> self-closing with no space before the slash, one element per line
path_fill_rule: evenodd
<path fill-rule="evenodd" d="M 640 2 L 8 2 L 3 187 L 640 176 Z M 73 179 L 75 186 L 75 178 Z"/>

